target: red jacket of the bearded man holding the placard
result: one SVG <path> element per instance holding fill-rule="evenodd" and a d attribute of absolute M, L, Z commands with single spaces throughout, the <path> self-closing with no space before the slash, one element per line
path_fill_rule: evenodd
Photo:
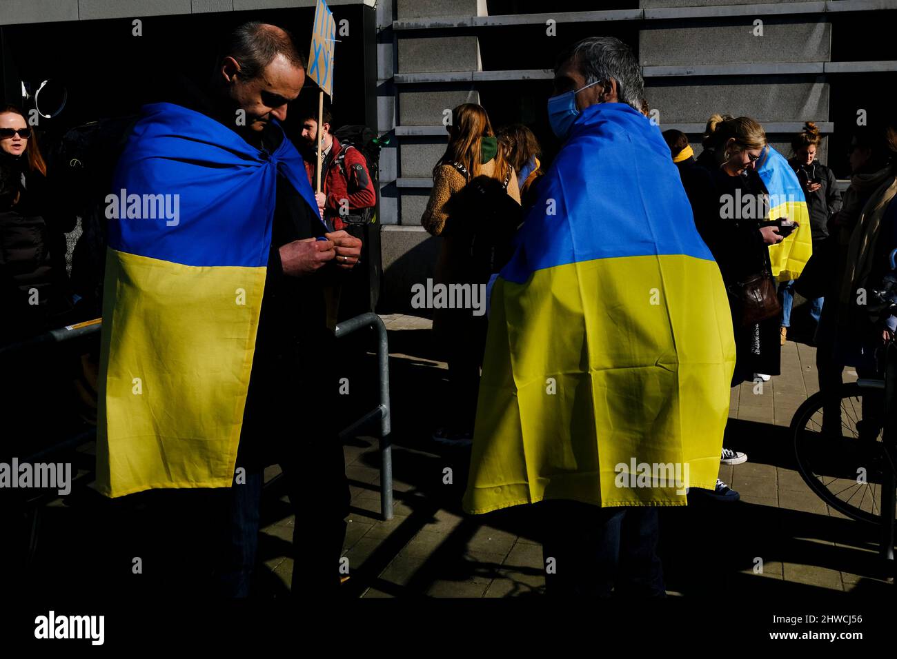
<path fill-rule="evenodd" d="M 365 163 L 364 156 L 354 147 L 349 147 L 340 167 L 336 163 L 336 157 L 343 151 L 343 146 L 335 137 L 330 152 L 324 159 L 324 176 L 321 177 L 321 192 L 327 195 L 327 204 L 324 206 L 324 214 L 333 217 L 336 230 L 344 228 L 344 222 L 340 219 L 340 201 L 349 200 L 349 212 L 360 208 L 368 208 L 377 203 L 377 194 L 374 192 L 374 182 L 370 180 L 370 172 Z M 311 188 L 315 189 L 315 166 L 317 161 L 309 159 L 305 163 L 305 170 L 309 174 Z"/>

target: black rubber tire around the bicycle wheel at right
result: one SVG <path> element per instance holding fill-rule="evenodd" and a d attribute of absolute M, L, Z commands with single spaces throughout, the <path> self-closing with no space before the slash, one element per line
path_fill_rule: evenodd
<path fill-rule="evenodd" d="M 867 389 L 859 386 L 856 383 L 849 383 L 846 385 L 842 385 L 840 389 L 839 401 L 843 402 L 848 398 L 862 399 L 862 396 L 867 393 Z M 823 403 L 825 401 L 825 397 L 822 392 L 817 392 L 814 395 L 811 395 L 806 399 L 804 403 L 797 408 L 797 412 L 794 413 L 794 416 L 791 419 L 790 425 L 790 433 L 794 441 L 794 455 L 795 460 L 797 462 L 797 473 L 800 473 L 801 478 L 804 479 L 807 486 L 809 486 L 810 490 L 814 491 L 814 494 L 818 496 L 820 499 L 840 512 L 841 515 L 848 516 L 851 519 L 855 519 L 858 522 L 865 522 L 871 525 L 881 525 L 882 520 L 880 513 L 875 514 L 875 512 L 869 512 L 867 510 L 862 509 L 861 507 L 851 505 L 848 501 L 844 499 L 839 499 L 838 496 L 829 490 L 829 488 L 820 480 L 819 477 L 813 472 L 811 467 L 812 460 L 811 455 L 815 455 L 818 457 L 818 448 L 817 450 L 811 451 L 809 450 L 811 447 L 808 446 L 808 439 L 806 437 L 806 426 L 807 423 L 814 417 L 814 414 L 817 412 L 821 412 L 823 409 Z M 843 404 L 843 403 L 842 403 Z M 855 408 L 856 405 L 853 405 Z M 817 433 L 817 436 L 820 436 Z M 861 487 L 859 483 L 857 483 L 858 487 Z M 880 485 L 879 491 L 875 492 L 875 487 L 870 483 L 867 484 L 866 487 L 873 490 L 872 492 L 872 500 L 874 501 L 873 509 L 875 507 L 880 506 Z M 864 493 L 864 498 L 865 498 Z M 852 499 L 852 496 L 851 496 Z M 862 504 L 862 500 L 860 501 Z"/>

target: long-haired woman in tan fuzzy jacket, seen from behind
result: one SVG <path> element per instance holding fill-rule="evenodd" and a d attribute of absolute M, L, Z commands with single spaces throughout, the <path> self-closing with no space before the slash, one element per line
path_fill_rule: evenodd
<path fill-rule="evenodd" d="M 476 298 L 484 305 L 485 300 L 479 298 L 500 263 L 494 259 L 491 264 L 483 263 L 479 249 L 483 244 L 482 231 L 495 230 L 501 221 L 513 216 L 514 209 L 507 205 L 509 200 L 519 211 L 518 181 L 482 106 L 459 105 L 452 110 L 447 130 L 448 146 L 433 168 L 430 202 L 421 224 L 433 236 L 442 238 L 435 283 L 469 284 L 471 300 Z M 510 235 L 506 238 L 509 243 Z M 493 256 L 496 253 L 492 250 Z M 433 438 L 448 444 L 469 444 L 476 416 L 486 318 L 478 308 L 436 308 L 433 336 L 448 361 L 450 390 L 444 406 L 446 421 Z"/>

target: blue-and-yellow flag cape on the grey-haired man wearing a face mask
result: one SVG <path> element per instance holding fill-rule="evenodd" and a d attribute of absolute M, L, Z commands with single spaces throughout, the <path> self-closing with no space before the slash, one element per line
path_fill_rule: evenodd
<path fill-rule="evenodd" d="M 491 307 L 467 512 L 713 489 L 732 317 L 657 126 L 621 103 L 582 112 Z"/>

